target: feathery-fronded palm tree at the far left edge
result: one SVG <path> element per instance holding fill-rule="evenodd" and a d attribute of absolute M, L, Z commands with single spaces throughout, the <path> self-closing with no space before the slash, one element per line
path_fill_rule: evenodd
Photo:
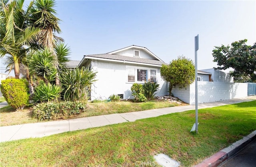
<path fill-rule="evenodd" d="M 24 0 L 1 0 L 0 3 L 0 58 L 12 56 L 15 78 L 20 77 L 20 62 L 31 44 L 36 44 L 40 28 L 27 24 L 28 10 L 22 9 Z"/>

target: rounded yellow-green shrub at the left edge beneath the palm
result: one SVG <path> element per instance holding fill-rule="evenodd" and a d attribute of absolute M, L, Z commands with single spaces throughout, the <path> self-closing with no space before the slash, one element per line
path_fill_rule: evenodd
<path fill-rule="evenodd" d="M 2 80 L 1 92 L 7 103 L 15 109 L 23 109 L 28 104 L 28 82 L 24 79 Z"/>

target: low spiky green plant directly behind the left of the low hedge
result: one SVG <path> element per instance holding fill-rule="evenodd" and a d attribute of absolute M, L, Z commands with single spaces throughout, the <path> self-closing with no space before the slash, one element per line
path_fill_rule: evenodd
<path fill-rule="evenodd" d="M 40 83 L 35 89 L 33 100 L 40 103 L 58 100 L 62 91 L 63 89 L 60 86 Z"/>

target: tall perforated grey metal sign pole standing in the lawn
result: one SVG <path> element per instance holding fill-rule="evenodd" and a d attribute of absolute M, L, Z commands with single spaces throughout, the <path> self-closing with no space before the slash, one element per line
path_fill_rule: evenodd
<path fill-rule="evenodd" d="M 195 81 L 195 85 L 196 85 L 196 133 L 198 133 L 198 89 L 197 89 L 197 51 L 198 51 L 198 35 L 195 36 L 195 69 L 196 69 L 196 81 Z"/>

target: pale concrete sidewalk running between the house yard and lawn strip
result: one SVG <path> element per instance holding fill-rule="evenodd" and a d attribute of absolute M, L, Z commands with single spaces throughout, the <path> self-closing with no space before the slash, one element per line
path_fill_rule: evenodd
<path fill-rule="evenodd" d="M 218 101 L 214 103 L 203 103 L 198 105 L 198 109 L 216 107 L 220 105 L 240 103 L 251 101 L 252 99 L 241 98 L 231 99 L 227 101 Z M 2 104 L 1 104 L 2 107 Z M 169 107 L 162 109 L 152 109 L 146 111 L 116 113 L 110 115 L 99 115 L 93 117 L 84 117 L 78 119 L 68 119 L 61 121 L 48 121 L 40 123 L 27 123 L 22 125 L 12 125 L 0 127 L 0 142 L 12 141 L 18 139 L 26 139 L 30 137 L 44 137 L 58 134 L 66 131 L 76 131 L 92 127 L 100 127 L 110 124 L 136 121 L 149 117 L 157 117 L 160 115 L 183 112 L 195 109 L 195 105 L 186 105 L 179 107 Z"/>

